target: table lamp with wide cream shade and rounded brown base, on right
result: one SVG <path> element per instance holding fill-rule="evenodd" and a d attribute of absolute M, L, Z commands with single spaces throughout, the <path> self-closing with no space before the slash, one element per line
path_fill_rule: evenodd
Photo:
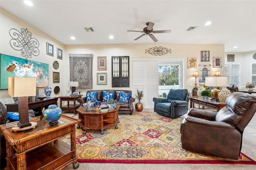
<path fill-rule="evenodd" d="M 214 76 L 214 77 L 205 77 L 205 85 L 210 87 L 215 87 L 211 90 L 212 99 L 219 100 L 218 94 L 220 90 L 217 87 L 223 87 L 228 85 L 228 77 L 227 76 Z"/>

